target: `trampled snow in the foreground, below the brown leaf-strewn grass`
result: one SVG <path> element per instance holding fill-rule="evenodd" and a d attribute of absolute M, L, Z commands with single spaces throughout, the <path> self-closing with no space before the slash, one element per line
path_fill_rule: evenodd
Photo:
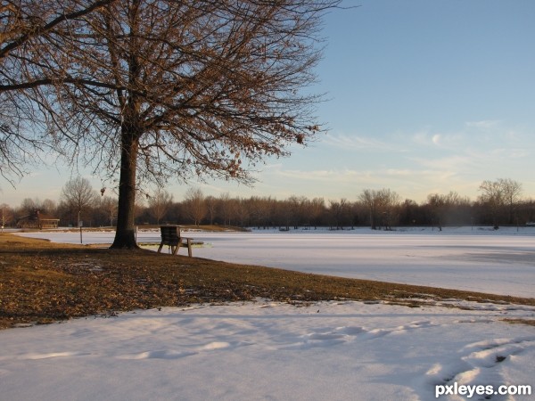
<path fill-rule="evenodd" d="M 434 399 L 454 381 L 534 384 L 535 330 L 501 319 L 535 308 L 491 309 L 259 300 L 1 331 L 0 394 L 383 401 Z"/>

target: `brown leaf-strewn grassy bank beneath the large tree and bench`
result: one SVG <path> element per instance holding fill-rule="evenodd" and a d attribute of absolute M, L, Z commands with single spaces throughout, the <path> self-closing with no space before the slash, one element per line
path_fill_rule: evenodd
<path fill-rule="evenodd" d="M 417 307 L 418 299 L 535 305 L 535 299 L 235 265 L 150 250 L 103 250 L 0 233 L 0 328 L 151 307 L 256 298 L 355 299 Z"/>

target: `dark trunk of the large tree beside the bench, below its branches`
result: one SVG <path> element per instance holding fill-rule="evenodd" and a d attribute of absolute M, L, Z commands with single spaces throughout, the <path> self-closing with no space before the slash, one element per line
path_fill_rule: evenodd
<path fill-rule="evenodd" d="M 136 226 L 134 225 L 138 140 L 136 135 L 128 131 L 130 130 L 123 128 L 121 135 L 119 212 L 115 240 L 111 249 L 139 248 L 136 243 Z"/>

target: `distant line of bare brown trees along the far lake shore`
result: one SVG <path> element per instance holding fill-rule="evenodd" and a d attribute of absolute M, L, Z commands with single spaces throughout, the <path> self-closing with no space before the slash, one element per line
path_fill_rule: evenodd
<path fill-rule="evenodd" d="M 72 186 L 72 185 L 70 185 Z M 70 188 L 66 184 L 65 188 Z M 14 226 L 21 217 L 39 209 L 48 216 L 60 218 L 60 225 L 76 226 L 78 218 L 85 226 L 114 225 L 117 201 L 110 196 L 93 193 L 84 205 L 76 205 L 69 193 L 62 192 L 59 203 L 26 199 L 18 208 L 0 205 L 0 221 Z M 86 188 L 87 189 L 87 188 Z M 136 201 L 136 225 L 193 224 L 238 225 L 243 227 L 317 227 L 334 229 L 370 226 L 391 229 L 396 225 L 525 225 L 535 222 L 535 201 L 522 198 L 522 185 L 509 179 L 485 181 L 476 201 L 457 192 L 432 193 L 421 203 L 401 200 L 389 189 L 366 189 L 355 201 L 325 201 L 291 196 L 285 200 L 272 197 L 250 198 L 205 196 L 191 189 L 183 201 L 174 201 L 165 190 L 140 194 Z M 102 194 L 102 196 L 101 196 Z M 76 195 L 76 193 L 75 193 Z"/>

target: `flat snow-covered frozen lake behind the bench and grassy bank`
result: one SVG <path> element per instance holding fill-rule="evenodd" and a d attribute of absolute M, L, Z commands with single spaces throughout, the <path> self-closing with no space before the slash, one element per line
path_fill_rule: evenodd
<path fill-rule="evenodd" d="M 28 233 L 79 243 L 79 233 Z M 392 232 L 253 230 L 251 233 L 189 232 L 204 241 L 193 256 L 281 267 L 314 274 L 403 282 L 458 290 L 535 297 L 535 227 L 415 228 Z M 84 233 L 84 243 L 110 243 L 113 233 Z M 138 233 L 139 242 L 160 233 Z M 155 248 L 154 248 L 155 249 Z M 185 250 L 180 250 L 185 254 Z"/>

